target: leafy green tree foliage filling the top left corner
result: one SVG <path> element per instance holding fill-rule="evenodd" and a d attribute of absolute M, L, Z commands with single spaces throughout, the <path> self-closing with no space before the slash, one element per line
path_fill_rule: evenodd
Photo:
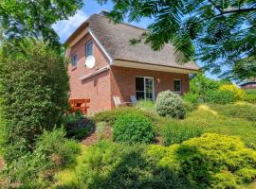
<path fill-rule="evenodd" d="M 59 36 L 52 25 L 80 8 L 82 0 L 1 0 L 0 26 L 8 40 L 33 37 L 59 47 Z"/>

